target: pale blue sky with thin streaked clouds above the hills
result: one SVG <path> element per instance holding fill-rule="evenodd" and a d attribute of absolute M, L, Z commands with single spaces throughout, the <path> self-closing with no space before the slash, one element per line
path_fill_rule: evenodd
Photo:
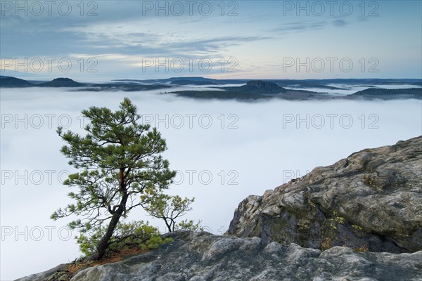
<path fill-rule="evenodd" d="M 421 78 L 421 1 L 1 1 L 0 74 Z"/>

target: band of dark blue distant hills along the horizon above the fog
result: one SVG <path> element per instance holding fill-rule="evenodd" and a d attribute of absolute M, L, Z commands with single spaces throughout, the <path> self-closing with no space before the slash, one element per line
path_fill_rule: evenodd
<path fill-rule="evenodd" d="M 190 91 L 178 91 L 178 86 L 194 85 L 209 86 L 212 89 L 191 89 Z M 236 86 L 235 86 L 236 85 Z M 241 86 L 237 86 L 241 85 Z M 404 88 L 414 85 L 411 89 L 382 89 L 383 86 L 396 85 Z M 223 99 L 223 100 L 258 100 L 281 98 L 285 100 L 327 100 L 327 99 L 422 99 L 422 89 L 416 88 L 422 85 L 421 79 L 210 79 L 204 77 L 172 77 L 166 79 L 117 79 L 111 83 L 79 83 L 69 78 L 56 78 L 52 81 L 27 81 L 15 77 L 0 75 L 0 87 L 23 88 L 23 87 L 67 87 L 72 91 L 151 91 L 157 89 L 169 89 L 165 93 L 173 93 L 177 96 L 199 99 Z M 343 93 L 335 93 L 335 90 L 352 90 L 354 86 L 370 87 L 364 91 L 358 91 L 345 96 Z M 379 87 L 379 88 L 378 88 Z M 315 88 L 330 89 L 328 93 L 314 91 Z M 390 87 L 388 87 L 390 88 Z M 174 91 L 172 91 L 174 89 Z M 307 91 L 309 89 L 310 91 Z M 352 93 L 352 92 L 351 92 Z"/>

